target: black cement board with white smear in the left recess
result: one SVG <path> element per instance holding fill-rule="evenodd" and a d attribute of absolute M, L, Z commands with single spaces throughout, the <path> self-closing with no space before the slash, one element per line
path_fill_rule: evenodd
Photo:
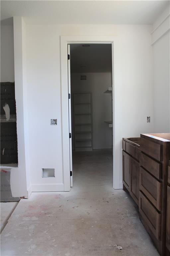
<path fill-rule="evenodd" d="M 1 91 L 1 164 L 18 163 L 15 83 L 0 83 Z M 10 119 L 7 120 L 4 106 L 8 104 Z"/>

